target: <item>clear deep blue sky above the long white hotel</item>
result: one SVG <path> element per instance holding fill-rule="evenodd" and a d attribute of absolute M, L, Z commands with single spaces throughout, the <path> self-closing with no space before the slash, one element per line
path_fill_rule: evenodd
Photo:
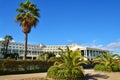
<path fill-rule="evenodd" d="M 26 0 L 0 0 L 0 39 L 11 35 L 24 42 L 15 22 L 16 8 Z M 120 53 L 120 0 L 31 0 L 40 9 L 39 23 L 29 34 L 30 44 L 78 43 Z"/>

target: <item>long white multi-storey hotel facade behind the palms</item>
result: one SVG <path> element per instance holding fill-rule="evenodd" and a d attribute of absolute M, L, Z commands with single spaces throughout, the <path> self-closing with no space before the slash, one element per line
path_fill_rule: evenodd
<path fill-rule="evenodd" d="M 96 56 L 107 53 L 107 50 L 99 49 L 99 48 L 91 48 L 86 46 L 80 46 L 78 44 L 71 45 L 44 45 L 44 44 L 28 44 L 28 53 L 27 57 L 29 59 L 35 59 L 37 56 L 41 55 L 43 52 L 52 52 L 55 55 L 61 53 L 58 48 L 66 50 L 66 46 L 68 46 L 71 50 L 76 50 L 79 48 L 81 54 L 87 57 L 89 60 L 93 60 Z M 1 50 L 2 46 L 0 46 Z M 8 46 L 8 53 L 18 53 L 20 58 L 24 56 L 24 44 L 18 42 L 11 42 Z"/>

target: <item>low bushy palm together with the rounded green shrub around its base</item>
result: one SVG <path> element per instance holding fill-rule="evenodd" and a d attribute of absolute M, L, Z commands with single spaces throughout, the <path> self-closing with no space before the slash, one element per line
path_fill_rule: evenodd
<path fill-rule="evenodd" d="M 84 57 L 81 55 L 79 49 L 72 51 L 67 47 L 65 52 L 63 50 L 61 51 L 63 52 L 60 55 L 61 57 L 58 58 L 54 66 L 48 70 L 48 78 L 62 78 L 67 80 L 78 80 L 83 78 L 84 74 L 81 65 L 88 64 L 88 62 L 82 60 Z"/>

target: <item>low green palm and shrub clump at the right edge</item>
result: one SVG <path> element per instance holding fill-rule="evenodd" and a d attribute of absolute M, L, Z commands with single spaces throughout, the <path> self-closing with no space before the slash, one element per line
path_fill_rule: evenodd
<path fill-rule="evenodd" d="M 94 69 L 98 71 L 120 71 L 120 56 L 118 54 L 101 54 L 94 59 L 95 65 Z"/>

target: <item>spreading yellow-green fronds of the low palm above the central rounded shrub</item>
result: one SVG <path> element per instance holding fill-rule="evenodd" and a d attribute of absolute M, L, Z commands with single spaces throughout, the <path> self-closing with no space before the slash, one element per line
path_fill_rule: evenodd
<path fill-rule="evenodd" d="M 82 64 L 88 63 L 87 61 L 83 61 L 83 59 L 84 56 L 81 55 L 79 49 L 72 51 L 69 49 L 69 47 L 67 47 L 65 53 L 61 54 L 61 58 L 55 62 L 55 65 L 71 69 L 73 67 L 78 67 Z"/>

